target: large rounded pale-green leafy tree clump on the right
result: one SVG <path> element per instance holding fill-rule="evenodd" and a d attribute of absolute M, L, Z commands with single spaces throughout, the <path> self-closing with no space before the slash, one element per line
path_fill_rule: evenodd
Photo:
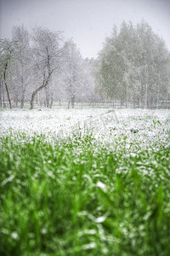
<path fill-rule="evenodd" d="M 96 64 L 100 94 L 113 102 L 156 108 L 170 100 L 170 53 L 164 41 L 142 20 L 122 22 L 105 39 Z"/>

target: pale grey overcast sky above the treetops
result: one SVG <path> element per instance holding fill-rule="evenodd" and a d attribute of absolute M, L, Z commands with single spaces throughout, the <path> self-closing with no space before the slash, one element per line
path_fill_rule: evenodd
<path fill-rule="evenodd" d="M 83 57 L 96 57 L 114 24 L 142 19 L 170 49 L 170 0 L 0 0 L 0 37 L 24 24 L 63 31 L 73 38 Z"/>

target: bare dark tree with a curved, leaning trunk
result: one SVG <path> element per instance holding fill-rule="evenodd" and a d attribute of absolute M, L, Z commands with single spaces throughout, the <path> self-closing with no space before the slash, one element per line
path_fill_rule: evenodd
<path fill-rule="evenodd" d="M 41 80 L 31 95 L 31 109 L 37 92 L 48 86 L 52 74 L 59 69 L 60 61 L 65 53 L 67 43 L 64 43 L 62 32 L 50 32 L 48 29 L 37 27 L 31 36 L 33 41 L 32 57 L 37 78 Z"/>

